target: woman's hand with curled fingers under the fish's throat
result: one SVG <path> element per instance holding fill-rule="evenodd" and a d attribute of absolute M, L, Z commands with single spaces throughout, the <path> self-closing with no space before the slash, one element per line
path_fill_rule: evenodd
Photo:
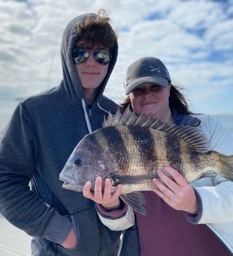
<path fill-rule="evenodd" d="M 119 184 L 116 186 L 116 190 L 111 193 L 111 184 L 110 178 L 104 180 L 104 190 L 102 189 L 102 178 L 95 178 L 95 187 L 94 192 L 91 190 L 91 182 L 86 181 L 86 184 L 83 187 L 83 196 L 89 198 L 95 203 L 101 204 L 107 211 L 118 209 L 120 207 L 120 192 L 122 185 Z"/>

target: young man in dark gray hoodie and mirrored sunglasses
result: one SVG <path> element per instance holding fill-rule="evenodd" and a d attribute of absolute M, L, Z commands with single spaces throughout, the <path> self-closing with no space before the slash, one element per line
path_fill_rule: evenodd
<path fill-rule="evenodd" d="M 20 102 L 2 135 L 0 211 L 33 236 L 32 255 L 116 255 L 120 231 L 101 224 L 95 202 L 63 189 L 59 173 L 80 139 L 116 112 L 103 92 L 117 52 L 102 11 L 71 20 L 62 38 L 61 83 Z"/>

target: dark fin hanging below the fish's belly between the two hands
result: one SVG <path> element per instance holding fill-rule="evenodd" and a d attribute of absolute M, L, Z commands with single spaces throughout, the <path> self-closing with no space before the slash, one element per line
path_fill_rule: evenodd
<path fill-rule="evenodd" d="M 135 191 L 129 194 L 121 194 L 120 199 L 131 206 L 136 212 L 141 213 L 141 215 L 147 215 L 146 209 L 142 206 L 146 204 L 146 199 L 141 192 Z"/>

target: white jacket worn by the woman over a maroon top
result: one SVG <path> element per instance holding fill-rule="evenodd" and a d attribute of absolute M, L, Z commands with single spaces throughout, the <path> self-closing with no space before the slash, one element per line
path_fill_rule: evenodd
<path fill-rule="evenodd" d="M 218 120 L 205 114 L 192 116 L 201 120 L 198 129 L 207 136 L 210 151 L 233 155 L 233 136 Z M 233 182 L 216 175 L 215 178 L 200 178 L 191 185 L 198 192 L 202 204 L 202 215 L 197 224 L 210 227 L 233 252 Z M 102 223 L 111 230 L 126 230 L 135 222 L 135 215 L 130 206 L 122 218 L 109 219 L 98 215 Z"/>

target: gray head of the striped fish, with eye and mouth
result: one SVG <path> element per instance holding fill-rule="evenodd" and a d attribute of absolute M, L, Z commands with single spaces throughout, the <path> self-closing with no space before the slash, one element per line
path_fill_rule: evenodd
<path fill-rule="evenodd" d="M 106 178 L 110 173 L 110 158 L 104 148 L 95 142 L 92 133 L 85 136 L 68 157 L 59 179 L 68 190 L 83 191 L 86 181 L 91 181 L 93 190 L 95 178 Z"/>

